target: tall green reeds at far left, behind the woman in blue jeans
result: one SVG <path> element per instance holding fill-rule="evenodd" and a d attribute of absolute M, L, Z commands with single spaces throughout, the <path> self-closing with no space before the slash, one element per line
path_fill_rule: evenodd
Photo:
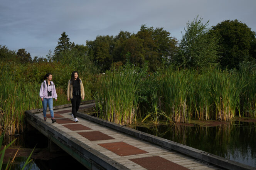
<path fill-rule="evenodd" d="M 23 132 L 24 112 L 30 109 L 42 108 L 39 97 L 39 83 L 18 82 L 15 73 L 8 66 L 0 68 L 0 135 L 15 135 Z M 61 92 L 57 88 L 57 92 Z M 66 104 L 66 96 L 60 95 L 56 105 Z"/>

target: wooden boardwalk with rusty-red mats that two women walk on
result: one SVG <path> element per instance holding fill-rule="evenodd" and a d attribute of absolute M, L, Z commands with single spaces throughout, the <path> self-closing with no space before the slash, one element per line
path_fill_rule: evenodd
<path fill-rule="evenodd" d="M 26 111 L 26 120 L 89 169 L 254 169 L 87 114 L 74 122 L 67 106 L 56 107 L 54 124 L 49 111 L 43 120 L 42 109 Z M 82 104 L 79 112 L 92 106 Z"/>

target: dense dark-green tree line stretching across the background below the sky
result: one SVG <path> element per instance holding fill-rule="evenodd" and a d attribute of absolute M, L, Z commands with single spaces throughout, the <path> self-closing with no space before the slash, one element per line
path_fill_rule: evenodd
<path fill-rule="evenodd" d="M 208 21 L 209 22 L 209 21 Z M 17 52 L 0 45 L 1 61 L 19 63 L 60 62 L 77 70 L 104 72 L 113 65 L 130 62 L 133 66 L 148 63 L 148 71 L 173 65 L 175 67 L 205 69 L 220 66 L 239 68 L 241 63 L 255 64 L 256 37 L 245 23 L 226 20 L 209 27 L 202 18 L 187 22 L 178 43 L 164 28 L 141 25 L 137 33 L 120 31 L 116 36 L 97 36 L 86 45 L 71 43 L 63 32 L 54 53 L 46 58 L 31 58 L 25 49 Z"/>

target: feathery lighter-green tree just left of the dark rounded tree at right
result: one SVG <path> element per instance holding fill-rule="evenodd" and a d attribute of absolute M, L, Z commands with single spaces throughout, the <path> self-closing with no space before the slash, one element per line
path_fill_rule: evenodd
<path fill-rule="evenodd" d="M 200 70 L 217 63 L 218 38 L 209 34 L 208 22 L 203 24 L 202 18 L 197 16 L 191 23 L 187 22 L 187 28 L 184 28 L 179 55 L 186 68 Z"/>

